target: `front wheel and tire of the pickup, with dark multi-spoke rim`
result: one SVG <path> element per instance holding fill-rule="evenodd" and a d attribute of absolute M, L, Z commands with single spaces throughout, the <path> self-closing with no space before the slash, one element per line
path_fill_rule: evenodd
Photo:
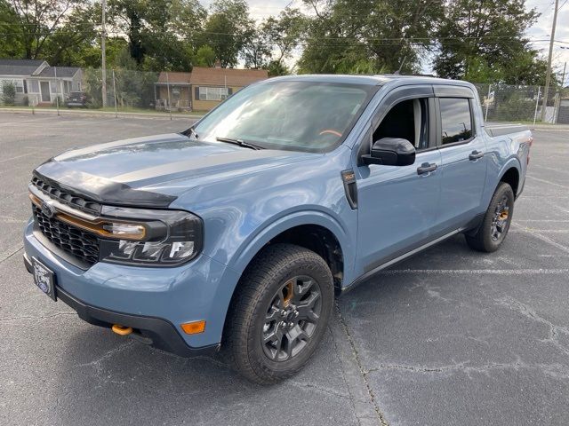
<path fill-rule="evenodd" d="M 332 272 L 315 252 L 292 244 L 264 248 L 228 312 L 222 351 L 229 365 L 260 384 L 294 375 L 325 335 L 333 297 Z"/>

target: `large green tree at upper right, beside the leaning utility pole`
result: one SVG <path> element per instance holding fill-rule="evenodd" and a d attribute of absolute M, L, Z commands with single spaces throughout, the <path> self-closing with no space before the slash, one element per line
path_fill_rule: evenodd
<path fill-rule="evenodd" d="M 547 65 L 524 36 L 538 16 L 525 9 L 525 0 L 448 2 L 437 31 L 437 75 L 474 83 L 540 84 Z"/>

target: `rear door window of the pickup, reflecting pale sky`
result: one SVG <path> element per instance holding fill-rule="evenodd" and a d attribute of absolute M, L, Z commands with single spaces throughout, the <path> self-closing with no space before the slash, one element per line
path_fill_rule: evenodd
<path fill-rule="evenodd" d="M 469 99 L 441 98 L 441 142 L 443 145 L 472 138 L 472 115 Z"/>

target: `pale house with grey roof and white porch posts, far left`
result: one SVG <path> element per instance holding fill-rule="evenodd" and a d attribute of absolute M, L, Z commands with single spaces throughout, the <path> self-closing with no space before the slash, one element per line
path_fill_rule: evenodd
<path fill-rule="evenodd" d="M 0 93 L 4 83 L 16 88 L 16 104 L 51 105 L 59 96 L 81 91 L 83 73 L 77 67 L 50 67 L 41 59 L 0 59 Z"/>

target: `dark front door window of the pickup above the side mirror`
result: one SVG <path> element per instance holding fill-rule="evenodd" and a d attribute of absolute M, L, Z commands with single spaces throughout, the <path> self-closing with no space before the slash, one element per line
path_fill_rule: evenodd
<path fill-rule="evenodd" d="M 381 138 L 404 138 L 417 151 L 429 147 L 428 99 L 407 99 L 391 107 L 373 132 L 373 142 Z"/>

